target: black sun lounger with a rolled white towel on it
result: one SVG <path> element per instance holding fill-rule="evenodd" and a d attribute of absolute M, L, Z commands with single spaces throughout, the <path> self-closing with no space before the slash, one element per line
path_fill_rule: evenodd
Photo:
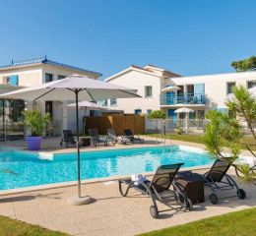
<path fill-rule="evenodd" d="M 139 185 L 136 185 L 131 178 L 120 179 L 118 184 L 121 196 L 126 197 L 130 189 L 135 189 L 143 195 L 149 196 L 153 203 L 153 206 L 150 207 L 150 213 L 154 218 L 157 218 L 160 212 L 167 210 L 192 209 L 191 200 L 186 197 L 182 189 L 174 182 L 174 177 L 182 164 L 161 165 L 158 167 L 152 181 L 147 180 Z M 125 192 L 122 189 L 122 184 L 127 185 Z M 157 201 L 170 208 L 159 210 Z"/>

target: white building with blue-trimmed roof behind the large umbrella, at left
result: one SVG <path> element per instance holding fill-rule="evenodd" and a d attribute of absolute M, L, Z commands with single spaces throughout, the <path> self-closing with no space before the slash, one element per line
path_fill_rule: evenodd
<path fill-rule="evenodd" d="M 12 62 L 10 65 L 0 66 L 0 93 L 61 80 L 71 74 L 87 76 L 95 80 L 101 76 L 96 72 L 48 60 L 46 57 Z M 75 127 L 75 110 L 67 110 L 67 102 L 62 102 L 61 97 L 59 101 L 37 101 L 33 104 L 22 100 L 0 99 L 0 127 L 1 122 L 18 122 L 26 105 L 36 106 L 42 113 L 51 114 L 55 135 L 61 135 L 63 129 Z M 83 115 L 84 112 L 81 111 L 81 116 Z"/>

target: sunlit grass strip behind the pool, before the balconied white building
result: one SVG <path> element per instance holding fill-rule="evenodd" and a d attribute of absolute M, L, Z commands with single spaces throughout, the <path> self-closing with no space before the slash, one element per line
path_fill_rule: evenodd
<path fill-rule="evenodd" d="M 162 137 L 168 140 L 176 140 L 176 141 L 183 141 L 183 142 L 190 142 L 190 143 L 196 143 L 196 144 L 201 144 L 204 145 L 204 135 L 202 134 L 167 134 L 167 135 L 160 135 L 160 134 L 149 134 L 147 136 L 150 137 Z M 243 143 L 248 143 L 248 144 L 255 144 L 255 141 L 252 137 L 244 137 L 242 140 Z M 243 147 L 246 149 L 246 147 Z M 256 150 L 256 146 L 251 146 L 252 150 Z"/>

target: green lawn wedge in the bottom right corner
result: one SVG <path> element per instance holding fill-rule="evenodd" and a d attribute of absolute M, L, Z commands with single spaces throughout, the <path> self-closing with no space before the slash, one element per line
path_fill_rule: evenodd
<path fill-rule="evenodd" d="M 256 235 L 256 208 L 227 213 L 165 228 L 141 236 L 249 236 Z"/>

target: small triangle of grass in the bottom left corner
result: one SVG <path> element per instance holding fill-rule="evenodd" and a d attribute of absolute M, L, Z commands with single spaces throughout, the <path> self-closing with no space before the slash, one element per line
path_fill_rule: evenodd
<path fill-rule="evenodd" d="M 20 220 L 0 216 L 1 236 L 67 236 L 68 234 L 50 231 L 40 226 L 25 223 Z"/>

